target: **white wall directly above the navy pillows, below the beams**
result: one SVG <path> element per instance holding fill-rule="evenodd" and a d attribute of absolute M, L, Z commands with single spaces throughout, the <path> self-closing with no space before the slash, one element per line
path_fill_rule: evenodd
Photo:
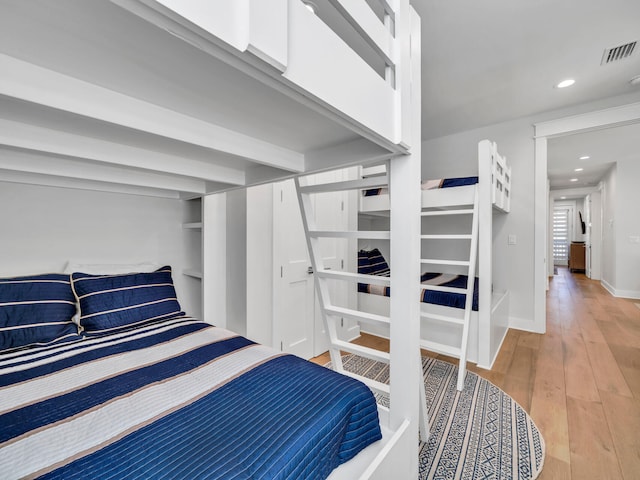
<path fill-rule="evenodd" d="M 68 260 L 168 264 L 191 313 L 183 213 L 175 199 L 0 182 L 0 277 L 62 272 Z"/>

